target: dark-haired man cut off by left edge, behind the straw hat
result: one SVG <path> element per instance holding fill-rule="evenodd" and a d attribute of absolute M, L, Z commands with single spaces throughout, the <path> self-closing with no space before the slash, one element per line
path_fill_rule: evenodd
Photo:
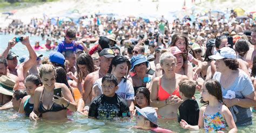
<path fill-rule="evenodd" d="M 8 72 L 8 63 L 6 59 L 4 57 L 0 57 L 0 77 L 3 75 L 8 76 L 15 81 L 14 90 L 17 90 L 19 87 L 18 77 Z"/>

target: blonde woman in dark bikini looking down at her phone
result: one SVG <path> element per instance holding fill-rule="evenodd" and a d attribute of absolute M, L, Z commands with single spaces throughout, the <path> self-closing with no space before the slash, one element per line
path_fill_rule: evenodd
<path fill-rule="evenodd" d="M 67 109 L 75 112 L 77 105 L 69 88 L 65 84 L 56 83 L 56 70 L 52 64 L 42 64 L 39 68 L 39 76 L 43 86 L 35 91 L 33 111 L 29 117 L 36 121 L 39 115 L 47 120 L 63 120 L 67 118 Z M 54 95 L 55 88 L 62 88 L 62 97 Z"/>

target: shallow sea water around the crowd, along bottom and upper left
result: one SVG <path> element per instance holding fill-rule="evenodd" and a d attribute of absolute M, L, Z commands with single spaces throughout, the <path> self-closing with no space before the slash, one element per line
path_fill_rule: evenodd
<path fill-rule="evenodd" d="M 0 53 L 8 45 L 8 40 L 14 38 L 15 35 L 0 35 Z M 40 41 L 41 45 L 45 43 L 38 36 L 30 36 L 31 45 L 35 44 L 35 41 Z M 11 49 L 19 57 L 22 55 L 28 56 L 28 50 L 22 45 L 22 43 L 17 43 L 17 45 Z M 48 56 L 50 51 L 37 51 L 39 54 Z M 19 58 L 18 58 L 19 59 Z M 200 98 L 199 92 L 196 93 L 197 100 Z M 199 103 L 199 102 L 198 102 Z M 201 104 L 199 104 L 201 106 Z M 15 110 L 0 110 L 0 132 L 149 132 L 146 130 L 134 129 L 132 126 L 135 124 L 136 120 L 126 119 L 126 120 L 113 120 L 113 121 L 104 121 L 104 120 L 94 120 L 88 119 L 84 115 L 79 113 L 74 113 L 73 115 L 68 116 L 67 121 L 46 121 L 38 120 L 33 122 L 29 120 L 29 117 L 18 116 L 13 118 L 16 112 Z M 256 132 L 256 113 L 253 113 L 253 125 L 247 127 L 238 128 L 239 132 Z M 186 129 L 181 129 L 177 121 L 174 120 L 158 120 L 158 125 L 161 128 L 170 129 L 175 132 L 189 132 Z"/>

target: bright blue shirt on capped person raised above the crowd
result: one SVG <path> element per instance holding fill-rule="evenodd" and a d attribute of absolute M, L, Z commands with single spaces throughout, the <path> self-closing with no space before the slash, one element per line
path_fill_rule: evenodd
<path fill-rule="evenodd" d="M 57 51 L 59 53 L 63 53 L 63 51 L 66 51 L 66 50 L 72 50 L 72 51 L 76 51 L 76 49 L 81 49 L 81 50 L 84 50 L 83 46 L 81 44 L 78 44 L 77 46 L 74 45 L 75 41 L 72 41 L 71 43 L 66 43 L 65 40 L 64 41 L 61 41 L 59 42 L 58 44 L 58 49 Z"/>

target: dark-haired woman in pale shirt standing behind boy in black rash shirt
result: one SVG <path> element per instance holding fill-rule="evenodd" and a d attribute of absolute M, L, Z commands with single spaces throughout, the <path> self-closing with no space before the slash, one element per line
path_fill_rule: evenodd
<path fill-rule="evenodd" d="M 112 75 L 116 76 L 118 80 L 118 90 L 116 93 L 127 101 L 127 105 L 129 106 L 130 110 L 134 109 L 133 99 L 134 99 L 134 90 L 132 83 L 128 80 L 127 73 L 130 69 L 130 61 L 122 56 L 117 55 L 111 61 L 109 71 L 107 73 L 111 73 Z M 92 91 L 92 99 L 97 97 L 98 95 L 102 94 L 102 78 L 96 80 L 95 85 L 93 85 Z"/>

